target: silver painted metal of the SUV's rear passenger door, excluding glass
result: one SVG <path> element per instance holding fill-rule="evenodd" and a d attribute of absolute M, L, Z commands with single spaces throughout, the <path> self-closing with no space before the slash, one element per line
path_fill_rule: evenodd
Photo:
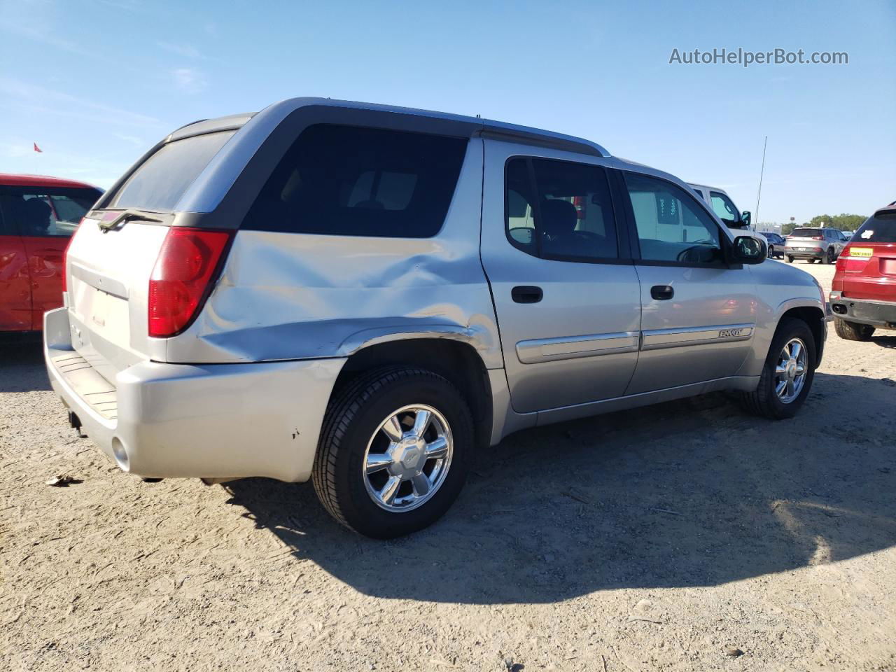
<path fill-rule="evenodd" d="M 532 412 L 622 396 L 638 360 L 636 348 L 596 357 L 539 358 L 526 363 L 513 357 L 525 341 L 564 339 L 577 334 L 641 330 L 638 276 L 631 264 L 560 262 L 526 254 L 507 240 L 504 226 L 504 164 L 513 156 L 577 160 L 604 166 L 614 159 L 486 140 L 482 196 L 482 264 L 501 326 L 504 366 L 513 409 Z M 519 304 L 511 297 L 518 285 L 544 292 L 541 301 Z"/>

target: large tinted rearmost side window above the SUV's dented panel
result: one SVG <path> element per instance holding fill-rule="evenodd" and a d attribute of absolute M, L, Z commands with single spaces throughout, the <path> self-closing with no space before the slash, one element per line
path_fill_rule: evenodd
<path fill-rule="evenodd" d="M 425 238 L 442 228 L 467 140 L 309 126 L 274 169 L 243 228 Z"/>

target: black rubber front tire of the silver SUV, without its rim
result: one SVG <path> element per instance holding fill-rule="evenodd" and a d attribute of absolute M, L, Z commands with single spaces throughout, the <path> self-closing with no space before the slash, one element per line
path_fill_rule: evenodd
<path fill-rule="evenodd" d="M 777 369 L 780 366 L 781 355 L 790 344 L 798 340 L 806 349 L 804 362 L 804 380 L 800 383 L 797 394 L 788 401 L 778 392 L 780 384 Z M 759 376 L 759 385 L 754 392 L 744 392 L 743 402 L 747 410 L 755 415 L 781 420 L 793 418 L 806 401 L 812 381 L 815 376 L 815 340 L 808 324 L 795 317 L 785 317 L 778 325 L 778 331 L 771 340 L 769 354 L 765 358 L 765 366 L 762 367 L 762 375 Z M 785 390 L 786 391 L 786 390 Z M 786 395 L 785 395 L 786 396 Z"/>

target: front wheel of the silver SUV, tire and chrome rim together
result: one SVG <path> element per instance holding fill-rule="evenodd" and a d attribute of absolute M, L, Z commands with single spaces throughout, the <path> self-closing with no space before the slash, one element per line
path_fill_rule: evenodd
<path fill-rule="evenodd" d="M 759 385 L 744 393 L 746 409 L 772 420 L 793 418 L 812 388 L 814 362 L 815 340 L 809 326 L 795 317 L 781 320 Z"/>

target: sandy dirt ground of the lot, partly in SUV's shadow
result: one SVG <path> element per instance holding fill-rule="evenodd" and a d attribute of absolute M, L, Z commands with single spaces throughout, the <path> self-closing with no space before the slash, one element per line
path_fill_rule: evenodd
<path fill-rule="evenodd" d="M 7 347 L 0 669 L 896 669 L 894 381 L 896 332 L 831 329 L 793 420 L 711 395 L 523 432 L 376 542 L 310 484 L 120 472 Z"/>

